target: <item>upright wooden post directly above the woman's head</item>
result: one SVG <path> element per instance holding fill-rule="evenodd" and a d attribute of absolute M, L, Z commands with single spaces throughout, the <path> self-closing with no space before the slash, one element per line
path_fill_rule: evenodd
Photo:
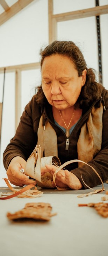
<path fill-rule="evenodd" d="M 49 43 L 57 40 L 57 21 L 52 18 L 53 15 L 53 0 L 48 1 L 49 6 Z"/>

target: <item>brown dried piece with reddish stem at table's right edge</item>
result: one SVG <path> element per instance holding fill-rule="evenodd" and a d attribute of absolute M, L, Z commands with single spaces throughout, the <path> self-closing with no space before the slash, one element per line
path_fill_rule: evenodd
<path fill-rule="evenodd" d="M 78 206 L 89 206 L 94 207 L 95 210 L 102 216 L 108 217 L 108 203 L 88 203 L 88 204 L 79 204 Z"/>

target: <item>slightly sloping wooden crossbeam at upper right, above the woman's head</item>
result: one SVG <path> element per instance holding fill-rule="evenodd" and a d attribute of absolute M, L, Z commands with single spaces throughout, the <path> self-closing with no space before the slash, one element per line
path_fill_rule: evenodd
<path fill-rule="evenodd" d="M 86 18 L 91 16 L 99 16 L 101 14 L 107 14 L 107 13 L 108 13 L 108 5 L 103 5 L 103 6 L 96 6 L 93 8 L 83 9 L 83 10 L 74 11 L 74 12 L 52 14 L 51 18 L 56 19 L 56 21 L 59 22 L 59 21 Z"/>

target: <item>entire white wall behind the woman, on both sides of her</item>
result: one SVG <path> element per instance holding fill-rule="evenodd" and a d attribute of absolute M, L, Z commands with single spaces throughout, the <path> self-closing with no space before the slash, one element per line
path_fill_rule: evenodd
<path fill-rule="evenodd" d="M 100 0 L 107 5 L 108 0 Z M 95 0 L 54 0 L 54 13 L 75 11 L 95 6 Z M 100 17 L 103 85 L 108 89 L 108 14 Z M 72 40 L 82 50 L 88 67 L 98 71 L 98 43 L 96 19 L 89 17 L 58 22 L 58 40 Z M 48 1 L 35 0 L 0 26 L 0 67 L 39 61 L 39 50 L 48 44 Z M 34 95 L 34 88 L 41 83 L 40 70 L 23 71 L 21 74 L 21 109 Z M 3 74 L 0 74 L 0 102 L 2 101 Z M 3 106 L 2 139 L 0 152 L 1 178 L 6 177 L 2 153 L 15 133 L 15 74 L 6 73 Z"/>

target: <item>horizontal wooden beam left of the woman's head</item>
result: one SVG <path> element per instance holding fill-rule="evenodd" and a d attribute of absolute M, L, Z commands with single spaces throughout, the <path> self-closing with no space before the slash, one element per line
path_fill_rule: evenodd
<path fill-rule="evenodd" d="M 34 63 L 28 63 L 28 64 L 3 67 L 3 68 L 0 68 L 0 73 L 4 73 L 4 69 L 6 69 L 6 72 L 16 72 L 17 69 L 20 71 L 24 71 L 24 70 L 37 69 L 37 68 L 40 68 L 40 63 L 34 62 Z"/>

